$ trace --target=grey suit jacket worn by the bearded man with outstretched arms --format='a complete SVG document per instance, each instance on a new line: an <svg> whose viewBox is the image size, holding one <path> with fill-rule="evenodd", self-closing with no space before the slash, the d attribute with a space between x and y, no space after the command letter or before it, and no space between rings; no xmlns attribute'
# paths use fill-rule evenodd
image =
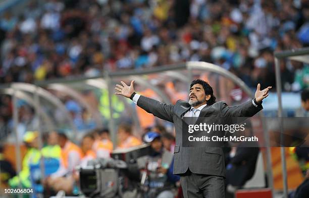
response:
<svg viewBox="0 0 309 198"><path fill-rule="evenodd" d="M148 113L173 122L176 129L176 146L174 151L174 174L185 173L188 169L196 174L225 176L222 148L218 147L182 147L182 118L190 109L188 102L178 100L175 105L165 104L151 98L140 96L137 105ZM252 101L238 106L228 106L224 101L205 106L199 117L251 117L263 109L255 107Z"/></svg>

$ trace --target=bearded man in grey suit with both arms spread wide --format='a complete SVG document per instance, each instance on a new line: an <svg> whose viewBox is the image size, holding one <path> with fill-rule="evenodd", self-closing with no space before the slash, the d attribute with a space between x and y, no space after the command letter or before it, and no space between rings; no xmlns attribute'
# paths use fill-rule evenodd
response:
<svg viewBox="0 0 309 198"><path fill-rule="evenodd" d="M190 85L189 101L178 100L175 105L165 104L151 98L136 94L134 81L128 86L116 85L118 95L133 100L139 107L153 115L173 122L176 129L176 146L174 151L174 174L180 175L185 198L223 198L225 165L222 148L219 147L183 147L183 117L251 117L262 107L262 100L269 95L268 87L261 85L255 97L239 106L228 106L224 101L216 102L213 88L200 79Z"/></svg>

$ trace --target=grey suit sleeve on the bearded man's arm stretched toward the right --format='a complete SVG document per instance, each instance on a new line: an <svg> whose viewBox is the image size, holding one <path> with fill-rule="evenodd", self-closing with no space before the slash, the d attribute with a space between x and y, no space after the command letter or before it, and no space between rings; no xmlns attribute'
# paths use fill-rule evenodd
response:
<svg viewBox="0 0 309 198"><path fill-rule="evenodd" d="M224 101L221 103L223 117L252 117L262 109L261 104L255 107L251 100L237 106L228 106Z"/></svg>

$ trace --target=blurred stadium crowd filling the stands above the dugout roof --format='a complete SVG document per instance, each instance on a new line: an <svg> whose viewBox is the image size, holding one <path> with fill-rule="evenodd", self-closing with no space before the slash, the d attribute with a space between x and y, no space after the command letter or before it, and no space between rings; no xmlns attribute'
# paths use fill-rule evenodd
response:
<svg viewBox="0 0 309 198"><path fill-rule="evenodd" d="M196 60L249 87L275 86L273 52L309 44L309 4L301 0L30 2L1 18L1 83ZM285 91L308 86L308 65L283 61L281 73Z"/></svg>

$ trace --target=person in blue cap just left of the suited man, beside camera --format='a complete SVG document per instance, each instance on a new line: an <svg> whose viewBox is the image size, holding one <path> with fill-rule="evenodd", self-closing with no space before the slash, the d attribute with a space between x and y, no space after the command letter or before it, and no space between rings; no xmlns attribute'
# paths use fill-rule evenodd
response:
<svg viewBox="0 0 309 198"><path fill-rule="evenodd" d="M137 159L142 175L147 175L145 182L142 181L147 186L145 197L173 198L179 180L179 176L173 175L173 154L163 147L158 133L150 131L143 140L150 143L149 155Z"/></svg>

